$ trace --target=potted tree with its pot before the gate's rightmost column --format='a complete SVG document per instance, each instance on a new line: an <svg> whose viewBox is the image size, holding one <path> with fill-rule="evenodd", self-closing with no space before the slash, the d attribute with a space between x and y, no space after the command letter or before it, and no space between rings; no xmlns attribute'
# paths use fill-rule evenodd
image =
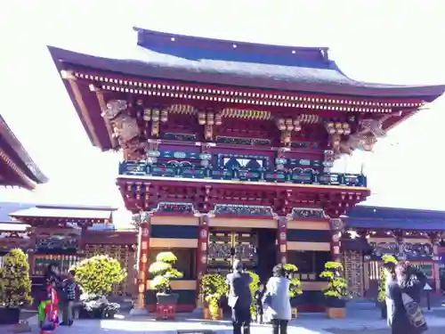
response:
<svg viewBox="0 0 445 334"><path fill-rule="evenodd" d="M351 297L348 284L342 274L343 265L336 261L328 261L325 264L325 270L320 273L320 278L328 280L328 287L323 292L327 314L331 319L345 317L346 299Z"/></svg>

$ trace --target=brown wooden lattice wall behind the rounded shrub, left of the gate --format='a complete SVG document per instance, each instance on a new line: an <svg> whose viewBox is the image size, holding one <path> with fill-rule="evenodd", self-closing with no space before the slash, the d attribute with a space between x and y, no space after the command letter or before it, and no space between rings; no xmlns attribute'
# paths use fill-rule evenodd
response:
<svg viewBox="0 0 445 334"><path fill-rule="evenodd" d="M131 296L134 291L134 252L123 245L86 245L86 257L108 255L117 259L122 268L125 268L127 277L125 281L114 287L115 296Z"/></svg>

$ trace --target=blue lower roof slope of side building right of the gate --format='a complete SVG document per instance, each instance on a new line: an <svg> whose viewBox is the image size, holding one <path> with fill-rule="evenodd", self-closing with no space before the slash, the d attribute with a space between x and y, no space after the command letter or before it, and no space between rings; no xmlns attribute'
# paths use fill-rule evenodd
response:
<svg viewBox="0 0 445 334"><path fill-rule="evenodd" d="M382 230L409 230L409 231L445 231L445 221L441 220L415 220L415 219L364 219L346 218L347 227L382 229Z"/></svg>

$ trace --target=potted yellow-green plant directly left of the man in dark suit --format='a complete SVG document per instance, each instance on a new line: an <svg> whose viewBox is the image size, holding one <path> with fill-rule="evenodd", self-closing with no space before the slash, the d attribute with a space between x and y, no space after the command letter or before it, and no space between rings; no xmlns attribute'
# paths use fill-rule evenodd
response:
<svg viewBox="0 0 445 334"><path fill-rule="evenodd" d="M206 305L204 319L223 319L223 309L220 307L221 297L229 292L225 277L219 273L207 273L201 279L201 293Z"/></svg>

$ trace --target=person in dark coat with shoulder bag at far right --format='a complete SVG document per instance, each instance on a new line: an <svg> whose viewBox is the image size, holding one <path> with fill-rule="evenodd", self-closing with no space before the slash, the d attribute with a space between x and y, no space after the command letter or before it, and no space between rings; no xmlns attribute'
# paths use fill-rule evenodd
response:
<svg viewBox="0 0 445 334"><path fill-rule="evenodd" d="M395 279L388 284L388 324L392 334L420 334L427 330L419 306L425 284L425 274L416 267L408 263L396 265Z"/></svg>

